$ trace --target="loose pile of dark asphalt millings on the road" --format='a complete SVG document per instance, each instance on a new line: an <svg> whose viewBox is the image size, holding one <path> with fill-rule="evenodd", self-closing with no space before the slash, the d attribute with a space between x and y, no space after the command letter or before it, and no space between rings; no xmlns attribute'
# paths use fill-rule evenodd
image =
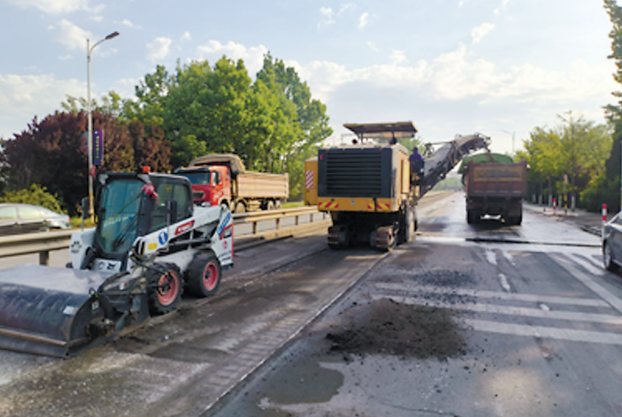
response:
<svg viewBox="0 0 622 417"><path fill-rule="evenodd" d="M326 335L332 343L330 352L439 360L465 353L452 310L383 298L354 303L343 315L345 323L338 326L339 331Z"/></svg>

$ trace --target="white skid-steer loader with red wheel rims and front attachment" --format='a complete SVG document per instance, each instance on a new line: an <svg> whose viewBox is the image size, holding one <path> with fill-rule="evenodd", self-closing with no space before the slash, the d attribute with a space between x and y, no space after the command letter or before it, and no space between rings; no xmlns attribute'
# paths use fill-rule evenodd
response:
<svg viewBox="0 0 622 417"><path fill-rule="evenodd" d="M68 268L0 271L0 348L68 357L175 309L184 287L218 289L233 266L224 207L192 203L188 179L99 176L97 226L71 238Z"/></svg>

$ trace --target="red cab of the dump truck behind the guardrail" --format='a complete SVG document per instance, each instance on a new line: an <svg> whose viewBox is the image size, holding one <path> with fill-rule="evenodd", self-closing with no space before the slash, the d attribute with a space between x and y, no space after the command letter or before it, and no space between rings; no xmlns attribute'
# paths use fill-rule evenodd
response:
<svg viewBox="0 0 622 417"><path fill-rule="evenodd" d="M195 204L203 206L229 206L231 197L231 176L229 168L223 165L209 167L182 168L175 171L192 184L192 197Z"/></svg>

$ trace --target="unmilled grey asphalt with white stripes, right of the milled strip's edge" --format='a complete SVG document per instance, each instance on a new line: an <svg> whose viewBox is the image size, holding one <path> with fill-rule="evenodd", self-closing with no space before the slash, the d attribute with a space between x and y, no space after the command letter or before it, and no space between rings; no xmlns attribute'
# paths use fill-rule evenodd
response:
<svg viewBox="0 0 622 417"><path fill-rule="evenodd" d="M622 415L622 277L576 218L540 210L506 227L466 224L459 196L429 207L415 242L205 415Z"/></svg>

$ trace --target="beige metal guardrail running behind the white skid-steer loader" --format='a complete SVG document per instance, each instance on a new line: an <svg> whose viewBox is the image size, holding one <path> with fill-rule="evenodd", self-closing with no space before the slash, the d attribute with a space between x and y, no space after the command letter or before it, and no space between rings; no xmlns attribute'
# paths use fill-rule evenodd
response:
<svg viewBox="0 0 622 417"><path fill-rule="evenodd" d="M280 221L283 218L294 217L295 226L300 224L300 217L308 215L309 222L313 222L313 215L319 213L316 207L301 207L291 209L279 209L271 211L259 211L253 213L240 213L233 215L235 224L250 223L253 226L253 235L257 234L257 223L274 220L275 227L280 228ZM322 215L325 218L326 214ZM71 235L76 230L59 230L14 236L0 237L0 258L10 256L39 254L39 264L48 265L50 251L67 249L71 241Z"/></svg>

